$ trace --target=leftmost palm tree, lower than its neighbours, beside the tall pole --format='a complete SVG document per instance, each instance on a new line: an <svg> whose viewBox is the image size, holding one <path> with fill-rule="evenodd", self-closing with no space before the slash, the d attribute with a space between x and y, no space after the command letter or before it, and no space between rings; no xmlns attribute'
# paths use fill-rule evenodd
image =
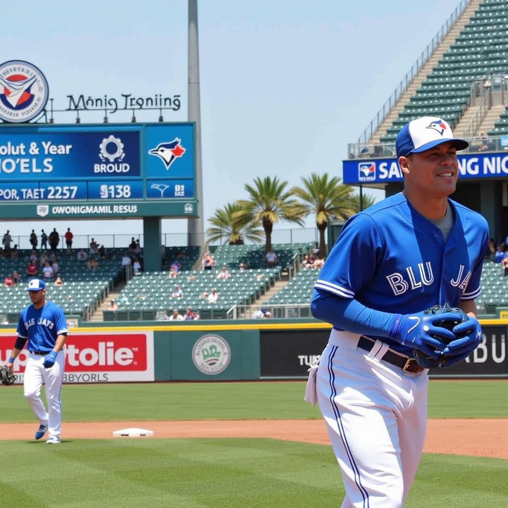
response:
<svg viewBox="0 0 508 508"><path fill-rule="evenodd" d="M206 230L208 241L221 241L226 238L230 245L243 245L244 240L259 242L263 239L263 232L255 225L234 218L234 214L242 208L237 203L227 203L224 208L217 208L209 220L212 227Z"/></svg>

